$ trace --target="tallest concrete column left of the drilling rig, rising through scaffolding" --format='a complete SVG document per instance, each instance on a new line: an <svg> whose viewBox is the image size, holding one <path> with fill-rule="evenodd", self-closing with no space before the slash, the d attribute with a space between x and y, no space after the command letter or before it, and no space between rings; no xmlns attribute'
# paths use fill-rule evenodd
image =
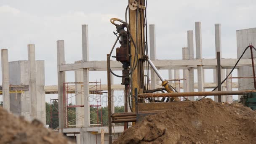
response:
<svg viewBox="0 0 256 144"><path fill-rule="evenodd" d="M82 25L82 48L83 61L89 60L88 50L88 25ZM83 89L84 89L84 111L85 128L90 127L90 103L89 103L89 69L83 69Z"/></svg>

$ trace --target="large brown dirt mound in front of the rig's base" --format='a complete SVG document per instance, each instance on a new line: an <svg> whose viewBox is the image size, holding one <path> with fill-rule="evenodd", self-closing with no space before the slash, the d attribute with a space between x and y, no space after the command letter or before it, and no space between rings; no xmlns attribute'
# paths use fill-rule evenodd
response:
<svg viewBox="0 0 256 144"><path fill-rule="evenodd" d="M144 118L114 144L253 144L256 112L240 104L211 99L178 104Z"/></svg>

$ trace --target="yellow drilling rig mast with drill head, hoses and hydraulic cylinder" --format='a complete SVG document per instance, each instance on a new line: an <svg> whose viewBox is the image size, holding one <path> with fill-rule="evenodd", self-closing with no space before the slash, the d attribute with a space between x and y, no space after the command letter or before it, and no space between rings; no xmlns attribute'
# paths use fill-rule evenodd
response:
<svg viewBox="0 0 256 144"><path fill-rule="evenodd" d="M173 93L177 92L168 80L164 80L155 65L149 59L148 40L147 40L147 0L129 0L125 9L125 20L112 18L110 22L116 27L114 34L117 36L107 59L110 57L122 63L122 75L117 75L112 71L110 62L108 74L110 72L116 77L122 78L122 85L125 85L125 113L128 107L131 112L136 112L136 104L153 102L180 101L177 97L136 98L142 93ZM117 42L120 47L115 49ZM112 52L116 51L116 56ZM149 89L149 68L153 69L162 81L163 88ZM149 111L154 108L149 108ZM138 111L138 110L137 110ZM115 114L113 114L115 115ZM113 123L120 123L121 120L112 120ZM123 121L122 121L123 122ZM129 120L125 120L125 129L128 128ZM134 124L134 123L133 123Z"/></svg>

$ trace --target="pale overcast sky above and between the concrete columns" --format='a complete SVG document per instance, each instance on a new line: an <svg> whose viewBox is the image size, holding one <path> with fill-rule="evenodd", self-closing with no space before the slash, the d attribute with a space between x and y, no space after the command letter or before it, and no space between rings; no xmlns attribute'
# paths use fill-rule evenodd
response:
<svg viewBox="0 0 256 144"><path fill-rule="evenodd" d="M45 85L56 85L56 41L65 40L66 63L81 60L81 25L88 24L89 60L105 60L115 42L109 19L124 19L127 1L0 0L0 48L8 48L9 61L27 60L27 45L35 44L36 60L45 60ZM255 7L255 0L148 0L147 20L156 27L157 59L181 59L187 30L195 30L195 21L202 23L203 58L215 58L218 23L222 57L236 58L236 30L256 26ZM162 72L167 79L167 72ZM106 72L90 72L89 80L96 79L106 84ZM211 82L213 76L205 79ZM74 73L67 72L67 82L73 81Z"/></svg>

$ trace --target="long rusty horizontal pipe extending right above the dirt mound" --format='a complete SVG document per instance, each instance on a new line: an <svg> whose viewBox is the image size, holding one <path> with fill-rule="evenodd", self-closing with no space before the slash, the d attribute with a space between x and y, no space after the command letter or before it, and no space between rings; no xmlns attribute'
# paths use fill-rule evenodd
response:
<svg viewBox="0 0 256 144"><path fill-rule="evenodd" d="M220 96L220 95L241 95L243 93L256 92L256 90L242 91L202 91L202 92L185 92L185 93L144 93L139 94L139 98L154 97L180 97L180 96Z"/></svg>

